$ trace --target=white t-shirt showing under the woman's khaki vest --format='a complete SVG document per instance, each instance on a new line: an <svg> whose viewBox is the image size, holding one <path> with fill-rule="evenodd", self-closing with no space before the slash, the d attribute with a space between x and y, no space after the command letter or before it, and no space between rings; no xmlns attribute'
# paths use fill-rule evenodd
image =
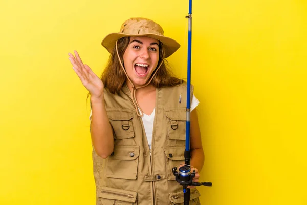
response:
<svg viewBox="0 0 307 205"><path fill-rule="evenodd" d="M191 112L198 106L199 103L200 101L195 97L195 95L193 95L192 103L191 103ZM145 129L145 133L146 133L146 137L147 137L147 141L148 141L148 145L150 149L151 149L151 141L152 141L153 121L155 120L155 110L156 108L153 109L153 112L150 115L146 115L145 113L143 113L143 116L141 117L143 120L143 125L144 125L144 129ZM92 110L90 114L90 120L92 120Z"/></svg>

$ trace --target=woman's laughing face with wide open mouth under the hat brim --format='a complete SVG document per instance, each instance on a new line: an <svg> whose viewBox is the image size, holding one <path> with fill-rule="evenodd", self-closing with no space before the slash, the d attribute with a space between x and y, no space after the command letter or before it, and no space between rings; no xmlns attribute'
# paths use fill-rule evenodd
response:
<svg viewBox="0 0 307 205"><path fill-rule="evenodd" d="M136 87L144 85L157 68L159 41L150 37L131 37L124 53L124 67Z"/></svg>

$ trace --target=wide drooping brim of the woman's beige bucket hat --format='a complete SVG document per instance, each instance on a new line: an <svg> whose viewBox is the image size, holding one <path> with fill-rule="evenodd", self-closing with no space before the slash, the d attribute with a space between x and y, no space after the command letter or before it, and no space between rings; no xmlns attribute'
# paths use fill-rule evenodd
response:
<svg viewBox="0 0 307 205"><path fill-rule="evenodd" d="M176 52L179 47L180 44L169 37L166 36L161 36L161 35L157 35L157 34L152 34L152 33L148 33L148 34L125 34L125 33L110 33L107 36L104 37L104 39L101 42L101 45L103 47L106 48L106 50L111 53L115 43L118 39L122 38L122 37L141 37L141 36L147 36L150 38L155 38L157 40L159 40L160 42L163 43L163 47L165 48L165 58L169 57L170 55L172 55L174 52Z"/></svg>

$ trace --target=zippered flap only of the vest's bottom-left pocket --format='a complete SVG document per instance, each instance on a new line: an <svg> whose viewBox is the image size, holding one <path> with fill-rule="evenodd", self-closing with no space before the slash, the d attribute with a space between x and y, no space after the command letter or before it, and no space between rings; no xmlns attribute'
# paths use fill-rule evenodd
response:
<svg viewBox="0 0 307 205"><path fill-rule="evenodd" d="M135 203L137 200L137 192L126 191L122 189L115 189L110 187L102 187L99 193L100 198L112 199L118 201L125 201Z"/></svg>

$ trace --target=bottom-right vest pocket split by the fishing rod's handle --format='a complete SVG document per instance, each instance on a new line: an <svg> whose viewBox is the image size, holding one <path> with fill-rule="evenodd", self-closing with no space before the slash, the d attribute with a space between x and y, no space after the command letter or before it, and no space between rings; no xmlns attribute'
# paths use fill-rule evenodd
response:
<svg viewBox="0 0 307 205"><path fill-rule="evenodd" d="M197 189L191 189L190 190L190 205L199 205L201 204L199 201L199 198L201 194ZM177 205L184 205L184 198L183 198L183 192L176 192L176 193L170 193L169 194L169 200L170 205L177 204Z"/></svg>

